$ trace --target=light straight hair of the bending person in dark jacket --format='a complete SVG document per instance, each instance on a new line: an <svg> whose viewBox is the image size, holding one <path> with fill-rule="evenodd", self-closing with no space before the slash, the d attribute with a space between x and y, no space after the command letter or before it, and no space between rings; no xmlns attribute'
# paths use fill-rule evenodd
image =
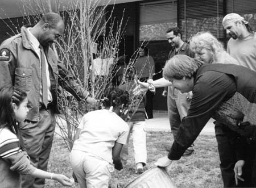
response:
<svg viewBox="0 0 256 188"><path fill-rule="evenodd" d="M201 65L203 65L203 62L197 59L186 55L176 55L168 60L164 66L163 77L169 81L172 78L177 80L181 80L183 77L192 78Z"/></svg>

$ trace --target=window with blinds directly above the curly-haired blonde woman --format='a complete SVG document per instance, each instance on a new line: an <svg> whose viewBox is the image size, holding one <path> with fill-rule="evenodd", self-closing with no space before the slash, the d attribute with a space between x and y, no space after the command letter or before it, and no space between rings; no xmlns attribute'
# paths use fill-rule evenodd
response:
<svg viewBox="0 0 256 188"><path fill-rule="evenodd" d="M183 40L189 40L200 31L210 31L218 39L223 39L222 0L181 0L178 9Z"/></svg>

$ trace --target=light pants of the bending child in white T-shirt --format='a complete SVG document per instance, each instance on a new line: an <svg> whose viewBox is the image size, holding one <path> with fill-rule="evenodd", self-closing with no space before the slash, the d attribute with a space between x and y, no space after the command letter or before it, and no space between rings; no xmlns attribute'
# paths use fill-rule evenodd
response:
<svg viewBox="0 0 256 188"><path fill-rule="evenodd" d="M72 150L70 161L81 188L108 188L113 166L92 153Z"/></svg>

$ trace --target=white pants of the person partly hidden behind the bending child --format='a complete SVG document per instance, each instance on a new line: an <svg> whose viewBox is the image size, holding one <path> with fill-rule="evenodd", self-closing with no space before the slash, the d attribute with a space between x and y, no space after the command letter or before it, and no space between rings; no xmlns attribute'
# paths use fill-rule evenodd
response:
<svg viewBox="0 0 256 188"><path fill-rule="evenodd" d="M138 162L142 162L144 163L144 165L146 165L147 149L146 149L145 124L146 123L144 121L128 123L130 130L129 130L129 136L127 137L127 144L123 145L123 148L120 154L122 160L128 160L128 153L129 153L128 144L129 144L130 134L132 133L135 164L137 164Z"/></svg>

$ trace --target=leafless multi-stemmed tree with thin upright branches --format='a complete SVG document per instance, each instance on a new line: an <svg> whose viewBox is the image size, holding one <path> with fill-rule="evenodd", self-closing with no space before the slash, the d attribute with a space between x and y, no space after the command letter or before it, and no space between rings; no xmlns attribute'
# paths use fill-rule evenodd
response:
<svg viewBox="0 0 256 188"><path fill-rule="evenodd" d="M104 91L112 86L112 80L117 70L114 69L118 62L120 41L125 32L127 20L115 20L113 18L114 5L108 8L109 1L85 0L70 1L69 9L62 1L20 0L22 24L35 24L42 14L53 11L58 12L64 19L65 32L60 39L53 44L60 63L69 70L69 74L75 77L77 82L92 97L101 99ZM102 4L102 2L105 2ZM125 10L123 10L124 14ZM10 22L9 26L14 35L19 32L16 23ZM15 27L13 27L15 26ZM138 52L134 53L137 56ZM97 62L96 62L97 60ZM121 84L124 83L127 70L133 66L130 61L123 71ZM68 83L67 83L68 84ZM68 149L71 150L73 137L79 122L86 112L95 110L82 100L77 102L71 94L59 88L58 103L61 114L57 115L59 135L64 139ZM135 112L140 101L131 96L130 107ZM128 119L126 119L128 120Z"/></svg>

